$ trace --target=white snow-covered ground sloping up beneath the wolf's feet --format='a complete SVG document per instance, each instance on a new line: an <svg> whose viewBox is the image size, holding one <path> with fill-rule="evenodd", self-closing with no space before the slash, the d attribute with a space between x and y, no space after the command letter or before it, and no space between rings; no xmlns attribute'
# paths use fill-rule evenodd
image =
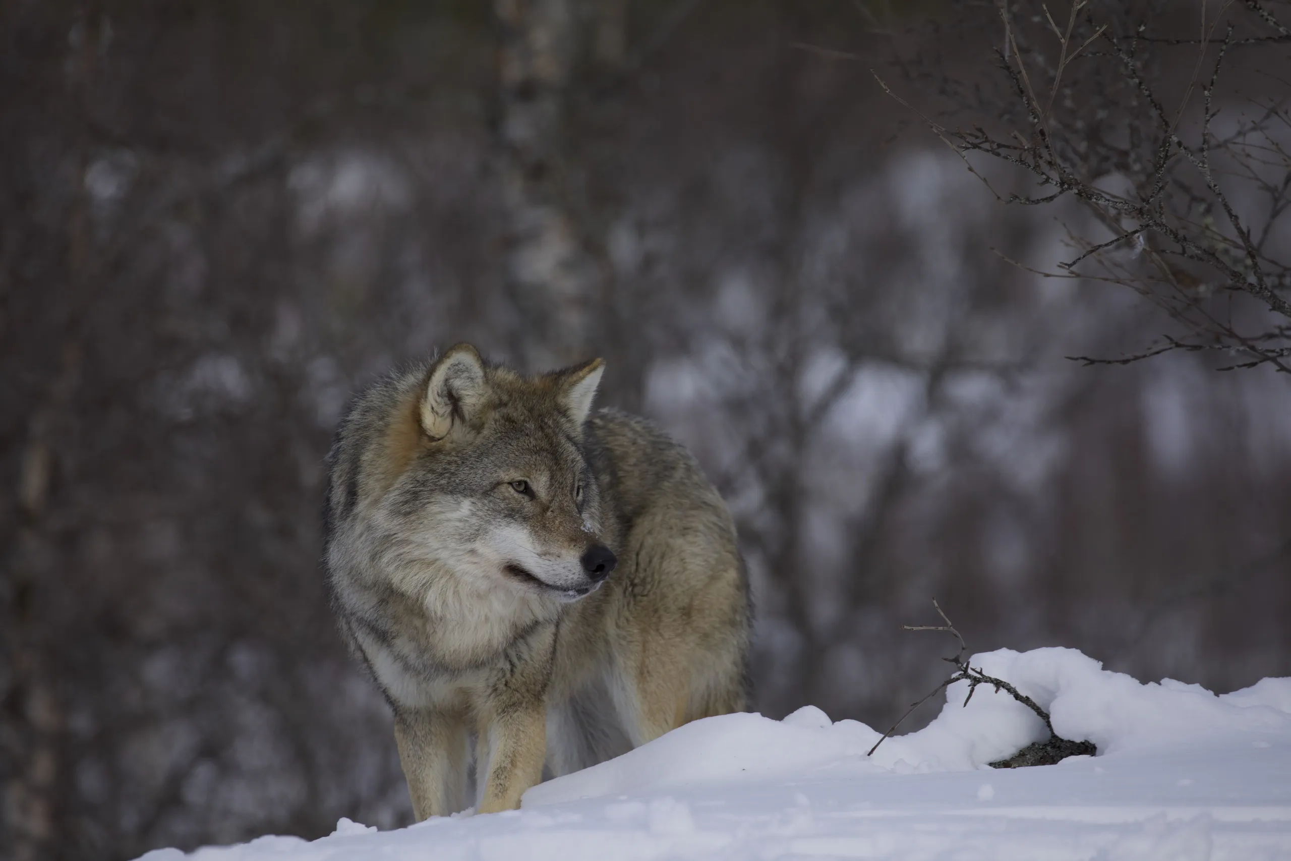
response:
<svg viewBox="0 0 1291 861"><path fill-rule="evenodd" d="M520 811L378 833L341 820L307 843L266 836L199 861L542 858L1291 858L1291 679L1215 696L1140 684L1073 649L1007 649L973 666L1012 682L1097 756L994 769L1046 737L1006 693L951 685L941 714L889 738L812 706L682 727L529 790ZM176 849L143 856L178 861Z"/></svg>

